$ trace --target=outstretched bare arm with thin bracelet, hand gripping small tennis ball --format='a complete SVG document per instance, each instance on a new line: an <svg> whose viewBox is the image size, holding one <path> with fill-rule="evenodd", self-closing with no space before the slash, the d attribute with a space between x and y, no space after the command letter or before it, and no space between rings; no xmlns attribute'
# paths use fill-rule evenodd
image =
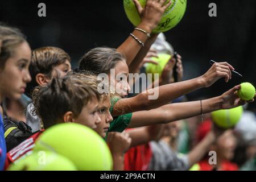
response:
<svg viewBox="0 0 256 182"><path fill-rule="evenodd" d="M141 127L148 125L157 125L160 123L168 123L172 121L178 121L180 119L190 118L195 115L201 114L201 108L204 113L210 113L219 109L230 109L245 104L237 96L237 90L240 89L240 85L234 86L234 88L228 90L221 96L202 100L202 107L200 101L181 102L175 104L168 104L157 109L149 111L138 111L133 113L131 121L128 125L129 128ZM253 102L251 100L249 102Z"/></svg>

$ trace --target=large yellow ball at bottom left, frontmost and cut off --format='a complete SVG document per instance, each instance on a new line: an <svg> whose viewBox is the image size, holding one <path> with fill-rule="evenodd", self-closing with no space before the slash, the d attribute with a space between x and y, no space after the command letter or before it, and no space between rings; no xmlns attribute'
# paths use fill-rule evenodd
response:
<svg viewBox="0 0 256 182"><path fill-rule="evenodd" d="M9 171L76 171L75 165L64 156L40 151L17 160Z"/></svg>

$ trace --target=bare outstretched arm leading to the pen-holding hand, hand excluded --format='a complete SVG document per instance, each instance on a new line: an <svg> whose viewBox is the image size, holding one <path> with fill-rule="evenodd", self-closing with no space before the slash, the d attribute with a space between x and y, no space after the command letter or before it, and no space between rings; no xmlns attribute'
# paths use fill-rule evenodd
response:
<svg viewBox="0 0 256 182"><path fill-rule="evenodd" d="M114 109L111 114L115 117L121 114L154 109L201 87L203 87L203 81L200 77L192 80L162 85L146 90L135 97L119 100L114 105Z"/></svg>

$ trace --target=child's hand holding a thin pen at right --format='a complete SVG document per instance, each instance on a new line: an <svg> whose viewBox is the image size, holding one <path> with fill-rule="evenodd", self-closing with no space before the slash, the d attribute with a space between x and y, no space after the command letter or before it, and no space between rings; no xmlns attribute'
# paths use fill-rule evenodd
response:
<svg viewBox="0 0 256 182"><path fill-rule="evenodd" d="M232 77L230 70L234 70L234 68L226 62L214 63L212 67L201 76L203 78L204 86L209 87L222 77L225 77L225 81L228 82Z"/></svg>

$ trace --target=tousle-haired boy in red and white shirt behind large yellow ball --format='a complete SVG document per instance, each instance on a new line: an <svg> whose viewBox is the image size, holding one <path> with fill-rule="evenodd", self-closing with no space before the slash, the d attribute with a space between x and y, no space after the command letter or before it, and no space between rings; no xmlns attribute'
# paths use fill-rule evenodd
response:
<svg viewBox="0 0 256 182"><path fill-rule="evenodd" d="M98 84L95 76L69 73L63 78L53 78L49 84L35 89L34 111L42 119L44 129L63 122L76 122L96 129L101 123L98 106L106 97L98 92ZM9 163L30 154L40 133L42 131L13 148L7 154ZM118 137L123 141L122 144L129 145L127 135Z"/></svg>

